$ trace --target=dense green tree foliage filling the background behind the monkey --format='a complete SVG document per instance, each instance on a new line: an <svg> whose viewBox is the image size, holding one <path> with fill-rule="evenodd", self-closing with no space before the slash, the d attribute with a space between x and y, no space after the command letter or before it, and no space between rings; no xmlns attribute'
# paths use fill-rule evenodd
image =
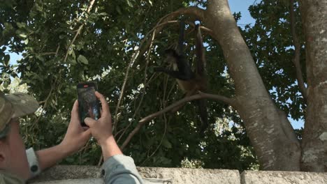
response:
<svg viewBox="0 0 327 184"><path fill-rule="evenodd" d="M151 38L145 36L161 17L194 4L206 6L206 2L161 0L94 1L93 5L75 0L3 1L1 83L8 92L10 77L19 76L42 107L36 116L21 121L27 145L45 148L61 141L77 98L75 86L81 81L96 81L108 97L119 145L141 118L183 98L173 79L153 72L153 67L164 64L164 49L177 40L178 24L165 25L150 49L145 45ZM303 118L305 103L291 61L289 4L265 0L249 10L256 24L245 26L242 34L263 82L278 107L294 119ZM240 18L239 13L234 16ZM302 35L298 11L296 16L296 29ZM190 61L194 60L194 36L190 28L186 40ZM233 79L221 47L208 34L204 40L209 92L233 97ZM132 61L138 49L140 56ZM22 53L17 66L9 63L10 52ZM122 102L116 106L129 66ZM188 103L178 114L164 114L143 125L124 153L132 155L139 166L180 167L187 159L200 160L205 168L256 169L258 161L235 109L216 101L209 101L208 109L210 128L205 137L199 137L197 111ZM90 140L63 163L98 164L100 156L96 141Z"/></svg>

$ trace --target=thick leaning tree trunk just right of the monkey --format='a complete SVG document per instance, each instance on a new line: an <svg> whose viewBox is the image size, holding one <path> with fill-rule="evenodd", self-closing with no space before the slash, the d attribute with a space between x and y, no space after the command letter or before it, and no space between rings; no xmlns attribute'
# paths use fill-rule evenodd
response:
<svg viewBox="0 0 327 184"><path fill-rule="evenodd" d="M238 112L258 155L261 169L300 170L300 145L275 106L234 20L227 0L208 0L203 23L219 41L235 82Z"/></svg>

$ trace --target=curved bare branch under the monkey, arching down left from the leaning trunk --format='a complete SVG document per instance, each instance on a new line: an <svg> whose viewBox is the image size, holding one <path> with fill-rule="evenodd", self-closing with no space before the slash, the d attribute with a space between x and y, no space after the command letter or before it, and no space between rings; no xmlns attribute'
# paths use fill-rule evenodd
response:
<svg viewBox="0 0 327 184"><path fill-rule="evenodd" d="M209 93L202 93L199 92L196 95L191 95L187 98L183 98L182 100L179 100L175 103L173 103L172 105L169 105L168 107L166 107L165 109L162 109L159 112L156 112L154 114L150 114L149 116L146 116L145 118L142 118L140 121L138 121L138 125L136 125L136 128L134 128L134 130L129 134L129 136L126 138L126 140L124 141L124 143L122 144L122 146L120 147L122 150L127 146L127 144L129 144L129 141L131 141L131 139L133 138L134 135L136 135L136 133L138 132L138 130L140 130L140 128L142 128L142 126L151 121L153 118L156 118L157 116L160 116L161 114L164 114L166 112L169 112L171 109L183 105L186 102L190 102L192 100L199 100L199 99L203 99L203 98L208 98L211 100L217 100L217 101L221 101L221 102L225 102L228 105L231 105L232 107L235 108L236 101L233 98L227 98L223 95L213 95L213 94L209 94Z"/></svg>

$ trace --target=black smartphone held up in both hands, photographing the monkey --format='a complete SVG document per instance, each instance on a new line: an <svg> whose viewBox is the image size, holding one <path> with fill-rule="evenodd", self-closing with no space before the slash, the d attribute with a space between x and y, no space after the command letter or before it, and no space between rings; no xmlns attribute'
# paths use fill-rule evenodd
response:
<svg viewBox="0 0 327 184"><path fill-rule="evenodd" d="M82 126L87 126L84 122L86 117L95 120L100 118L99 100L95 95L98 87L95 82L82 82L77 85L77 89L80 123Z"/></svg>

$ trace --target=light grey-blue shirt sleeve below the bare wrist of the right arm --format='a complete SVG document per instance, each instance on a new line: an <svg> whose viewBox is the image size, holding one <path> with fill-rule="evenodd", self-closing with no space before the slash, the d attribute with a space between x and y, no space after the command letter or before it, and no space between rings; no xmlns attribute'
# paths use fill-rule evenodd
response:
<svg viewBox="0 0 327 184"><path fill-rule="evenodd" d="M143 183L134 160L125 155L114 155L101 167L101 174L106 184Z"/></svg>

